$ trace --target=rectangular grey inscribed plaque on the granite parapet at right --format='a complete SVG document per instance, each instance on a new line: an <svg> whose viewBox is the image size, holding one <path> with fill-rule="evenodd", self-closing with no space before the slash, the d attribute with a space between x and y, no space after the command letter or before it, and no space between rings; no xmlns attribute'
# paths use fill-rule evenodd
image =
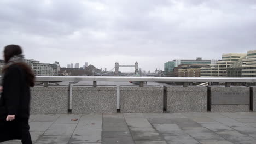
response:
<svg viewBox="0 0 256 144"><path fill-rule="evenodd" d="M250 93L243 91L211 92L212 105L249 105Z"/></svg>

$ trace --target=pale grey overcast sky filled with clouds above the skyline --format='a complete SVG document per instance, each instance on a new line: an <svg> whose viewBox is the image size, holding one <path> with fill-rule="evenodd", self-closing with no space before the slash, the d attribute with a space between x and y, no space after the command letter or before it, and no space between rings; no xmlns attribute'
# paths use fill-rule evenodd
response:
<svg viewBox="0 0 256 144"><path fill-rule="evenodd" d="M256 49L255 0L1 0L0 47L61 67L115 61L143 70L173 59L221 59ZM133 71L120 68L120 71Z"/></svg>

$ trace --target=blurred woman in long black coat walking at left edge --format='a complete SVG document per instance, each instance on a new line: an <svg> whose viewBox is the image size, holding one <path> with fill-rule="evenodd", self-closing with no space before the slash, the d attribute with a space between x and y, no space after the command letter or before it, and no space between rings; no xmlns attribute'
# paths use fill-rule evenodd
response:
<svg viewBox="0 0 256 144"><path fill-rule="evenodd" d="M0 142L19 139L22 143L32 143L28 119L30 87L34 86L35 78L23 58L20 46L5 46L0 96Z"/></svg>

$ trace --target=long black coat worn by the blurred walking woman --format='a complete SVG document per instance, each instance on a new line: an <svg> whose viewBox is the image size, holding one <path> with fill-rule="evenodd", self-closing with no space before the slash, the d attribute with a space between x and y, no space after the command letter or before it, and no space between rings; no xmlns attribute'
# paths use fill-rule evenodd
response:
<svg viewBox="0 0 256 144"><path fill-rule="evenodd" d="M0 142L21 139L22 129L29 129L30 87L26 71L19 65L10 65L3 77L0 98ZM6 121L7 115L15 115L14 121Z"/></svg>

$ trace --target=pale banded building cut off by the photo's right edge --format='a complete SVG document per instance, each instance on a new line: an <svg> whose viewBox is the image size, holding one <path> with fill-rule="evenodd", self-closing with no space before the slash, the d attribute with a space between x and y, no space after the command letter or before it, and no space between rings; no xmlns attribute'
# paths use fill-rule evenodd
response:
<svg viewBox="0 0 256 144"><path fill-rule="evenodd" d="M242 77L256 77L256 50L249 50L242 63Z"/></svg>

